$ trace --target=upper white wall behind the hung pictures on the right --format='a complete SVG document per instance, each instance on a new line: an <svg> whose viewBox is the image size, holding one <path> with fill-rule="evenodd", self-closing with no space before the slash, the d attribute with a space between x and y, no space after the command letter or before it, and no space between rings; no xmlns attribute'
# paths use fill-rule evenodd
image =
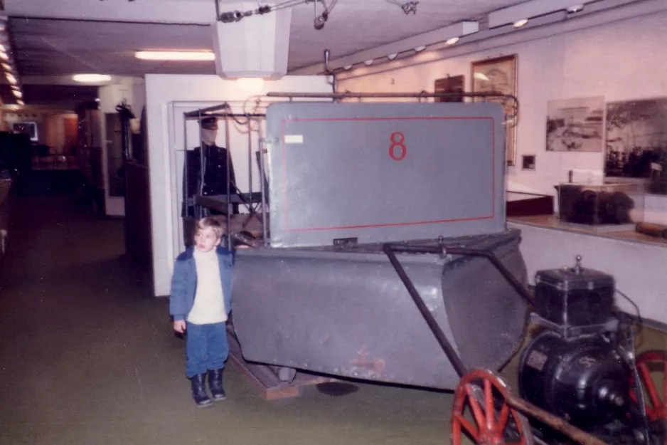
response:
<svg viewBox="0 0 667 445"><path fill-rule="evenodd" d="M432 91L434 80L448 74L465 75L466 90L470 90L472 62L516 53L520 115L517 166L508 167L508 189L554 194L553 186L567 182L570 169L575 170L575 181L602 177L604 152L546 152L548 100L604 96L607 102L612 102L667 97L666 42L667 11L663 11L457 58L341 80L338 90ZM521 155L536 155L535 171L521 170ZM667 209L667 200L660 201L663 210Z"/></svg>

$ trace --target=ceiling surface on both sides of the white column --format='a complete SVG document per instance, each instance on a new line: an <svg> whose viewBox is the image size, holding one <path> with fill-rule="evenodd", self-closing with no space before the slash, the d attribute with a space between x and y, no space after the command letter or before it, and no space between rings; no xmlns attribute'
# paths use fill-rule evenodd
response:
<svg viewBox="0 0 667 445"><path fill-rule="evenodd" d="M521 1L420 0L417 14L406 15L390 0L338 0L320 31L313 27L314 4L297 6L292 13L289 69L321 62L325 49L331 50L332 58L338 58L518 3ZM321 12L321 4L317 5ZM209 26L22 17L11 18L10 29L23 76L80 72L133 76L215 73L212 62L165 63L134 58L134 51L140 49L210 49Z"/></svg>

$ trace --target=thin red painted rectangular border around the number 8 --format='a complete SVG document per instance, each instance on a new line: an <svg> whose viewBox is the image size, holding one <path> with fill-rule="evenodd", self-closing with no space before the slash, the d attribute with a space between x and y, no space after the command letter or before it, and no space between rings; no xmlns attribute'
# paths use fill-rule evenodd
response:
<svg viewBox="0 0 667 445"><path fill-rule="evenodd" d="M460 116L460 117L330 117L317 118L307 117L302 119L284 119L281 123L282 131L282 179L283 185L287 184L287 153L285 152L285 122L343 122L350 120L490 120L491 121L491 215L490 216L476 216L474 218L457 218L457 219L438 219L434 221L412 221L407 223L380 223L380 224L360 224L356 226L331 226L331 227L312 227L309 229L290 229L287 215L289 214L287 201L287 187L283 187L282 196L285 203L285 230L288 232L303 232L303 231L321 231L321 230L344 230L344 229L366 229L369 227L395 227L395 226L416 226L420 224L441 224L459 221L481 221L484 219L493 219L496 217L496 122L493 117L489 116Z"/></svg>

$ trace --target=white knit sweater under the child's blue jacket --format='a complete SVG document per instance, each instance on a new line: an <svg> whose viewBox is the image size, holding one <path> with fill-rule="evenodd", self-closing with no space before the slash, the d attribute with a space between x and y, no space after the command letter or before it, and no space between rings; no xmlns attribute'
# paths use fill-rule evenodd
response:
<svg viewBox="0 0 667 445"><path fill-rule="evenodd" d="M197 270L197 290L188 321L196 325L227 321L218 253L215 248L209 252L194 248L193 256Z"/></svg>

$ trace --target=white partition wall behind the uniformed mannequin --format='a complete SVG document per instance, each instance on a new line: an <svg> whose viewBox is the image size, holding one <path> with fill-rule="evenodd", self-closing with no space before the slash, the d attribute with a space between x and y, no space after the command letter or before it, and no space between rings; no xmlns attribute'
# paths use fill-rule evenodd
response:
<svg viewBox="0 0 667 445"><path fill-rule="evenodd" d="M267 92L331 93L325 76L286 76L265 82L262 90L240 90L234 80L217 75L146 75L146 124L151 181L151 226L153 236L154 295L169 295L171 271L178 255L180 234L180 201L176 192L183 156L183 112L219 105L226 101L242 103L250 96ZM192 123L188 123L188 146L198 142ZM220 123L218 145L224 146L223 123ZM231 134L231 131L230 131ZM247 148L239 142L232 155L238 184L247 188ZM179 161L178 153L181 153ZM238 159L238 160L237 160ZM238 166L237 166L238 163ZM257 190L257 189L255 189Z"/></svg>

